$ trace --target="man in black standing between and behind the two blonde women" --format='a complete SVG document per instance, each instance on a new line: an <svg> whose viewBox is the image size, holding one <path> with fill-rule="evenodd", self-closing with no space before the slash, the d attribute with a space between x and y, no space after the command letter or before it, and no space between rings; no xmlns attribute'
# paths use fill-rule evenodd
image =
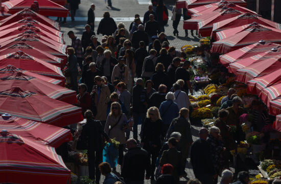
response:
<svg viewBox="0 0 281 184"><path fill-rule="evenodd" d="M143 87L144 81L142 78L136 79L136 85L133 87L132 93L132 107L133 107L133 118L135 120L133 125L133 137L137 140L137 125L139 118L142 121L142 125L145 122L146 111L147 111L147 95Z"/></svg>

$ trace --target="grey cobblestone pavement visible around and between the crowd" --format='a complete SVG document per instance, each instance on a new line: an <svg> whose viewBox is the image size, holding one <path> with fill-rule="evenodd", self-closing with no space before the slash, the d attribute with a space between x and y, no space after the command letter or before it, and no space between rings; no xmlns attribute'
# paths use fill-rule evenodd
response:
<svg viewBox="0 0 281 184"><path fill-rule="evenodd" d="M81 38L82 33L84 31L84 26L86 24L86 16L87 11L90 7L90 4L94 3L96 5L95 15L96 15L96 22L95 22L95 31L97 31L99 21L102 18L104 11L109 11L112 18L115 19L116 24L118 22L122 21L125 24L126 29L129 28L131 22L133 21L134 14L139 14L141 16L141 19L143 20L143 16L145 12L148 9L149 0L113 0L112 1L112 8L106 7L106 4L104 1L90 1L90 0L81 0L81 4L79 6L79 10L76 13L76 21L72 22L69 21L69 17L67 17L67 23L61 25L61 31L64 33L64 40L65 43L70 45L71 39L68 38L67 32L68 31L74 31L75 35ZM169 16L172 15L172 5L166 5L169 10ZM51 17L52 19L56 19L56 17ZM167 35L167 38L170 42L170 45L173 45L176 47L177 50L180 50L180 48L183 45L189 44L198 44L199 38L197 36L192 36L191 32L189 32L189 37L184 38L184 30L183 27L183 20L180 21L180 24L178 26L179 31L179 37L173 36L173 27L172 27L172 21L169 20L168 25L165 27L165 33ZM98 40L101 41L102 35L98 35ZM198 137L198 131L201 128L201 125L192 125L192 135L193 140L196 140ZM140 126L139 126L140 129ZM139 130L140 131L140 130ZM131 133L132 136L132 133ZM136 166L137 167L137 166ZM120 166L116 168L117 173L120 173ZM188 173L187 177L183 177L180 179L181 184L185 184L189 178L194 178L194 173L192 170L192 166L190 164L190 158L188 158L188 162L186 164L185 168L186 173ZM104 180L104 176L101 178L101 183ZM145 180L146 184L149 183L155 183L155 180Z"/></svg>

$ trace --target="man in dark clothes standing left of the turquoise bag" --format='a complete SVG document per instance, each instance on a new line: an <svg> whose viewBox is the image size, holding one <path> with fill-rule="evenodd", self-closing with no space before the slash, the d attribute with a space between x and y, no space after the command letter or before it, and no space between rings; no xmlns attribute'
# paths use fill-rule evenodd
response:
<svg viewBox="0 0 281 184"><path fill-rule="evenodd" d="M80 139L88 142L89 178L93 180L96 178L95 182L100 183L101 172L99 164L103 162L103 137L107 141L109 141L109 137L105 133L101 122L93 120L93 114L90 110L86 110L85 118L87 123L82 127Z"/></svg>

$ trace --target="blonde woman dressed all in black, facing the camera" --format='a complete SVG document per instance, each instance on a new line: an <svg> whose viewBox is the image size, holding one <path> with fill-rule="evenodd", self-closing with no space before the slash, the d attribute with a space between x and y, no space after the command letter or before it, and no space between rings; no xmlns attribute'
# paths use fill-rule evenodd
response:
<svg viewBox="0 0 281 184"><path fill-rule="evenodd" d="M151 157L151 179L154 179L156 158L162 144L162 125L163 122L157 107L150 107L147 110L146 120L143 126L141 142L143 148L148 152L149 159Z"/></svg>

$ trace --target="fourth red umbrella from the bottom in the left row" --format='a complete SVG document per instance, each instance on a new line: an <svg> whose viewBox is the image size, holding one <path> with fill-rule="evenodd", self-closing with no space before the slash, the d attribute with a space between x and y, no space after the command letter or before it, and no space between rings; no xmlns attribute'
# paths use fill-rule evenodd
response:
<svg viewBox="0 0 281 184"><path fill-rule="evenodd" d="M69 104L77 103L76 91L31 77L22 72L15 72L0 78L1 91L8 90L13 86L19 86L23 90L30 90L36 94L45 95Z"/></svg>

